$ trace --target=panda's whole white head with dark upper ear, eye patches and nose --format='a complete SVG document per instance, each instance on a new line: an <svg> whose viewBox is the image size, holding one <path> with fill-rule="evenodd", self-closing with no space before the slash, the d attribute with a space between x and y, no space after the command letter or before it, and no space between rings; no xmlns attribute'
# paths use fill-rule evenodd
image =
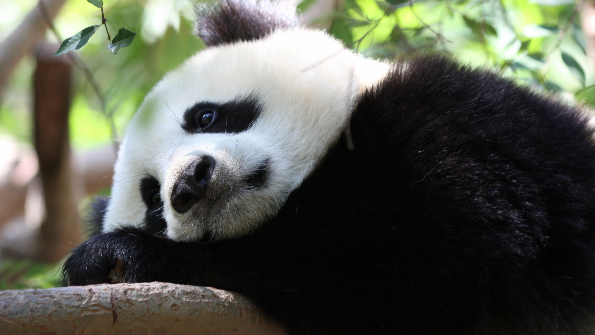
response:
<svg viewBox="0 0 595 335"><path fill-rule="evenodd" d="M168 73L130 122L104 232L248 234L315 169L389 68L268 0L201 7L197 31L208 47Z"/></svg>

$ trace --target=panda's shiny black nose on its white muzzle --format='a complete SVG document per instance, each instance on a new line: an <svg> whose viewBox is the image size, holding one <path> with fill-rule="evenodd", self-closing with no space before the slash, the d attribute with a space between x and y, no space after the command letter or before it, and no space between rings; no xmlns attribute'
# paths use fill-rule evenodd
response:
<svg viewBox="0 0 595 335"><path fill-rule="evenodd" d="M214 169L215 159L203 156L182 172L171 191L171 206L176 212L186 212L205 196L206 186Z"/></svg>

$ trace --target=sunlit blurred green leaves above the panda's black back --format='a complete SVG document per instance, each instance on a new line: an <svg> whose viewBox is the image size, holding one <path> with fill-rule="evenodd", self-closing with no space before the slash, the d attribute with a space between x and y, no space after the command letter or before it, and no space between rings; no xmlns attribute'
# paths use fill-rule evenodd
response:
<svg viewBox="0 0 595 335"><path fill-rule="evenodd" d="M582 0L346 0L330 30L369 57L448 52L462 63L488 64L568 98L581 92L577 97L584 100L593 94L585 87L595 76L580 28L582 5Z"/></svg>

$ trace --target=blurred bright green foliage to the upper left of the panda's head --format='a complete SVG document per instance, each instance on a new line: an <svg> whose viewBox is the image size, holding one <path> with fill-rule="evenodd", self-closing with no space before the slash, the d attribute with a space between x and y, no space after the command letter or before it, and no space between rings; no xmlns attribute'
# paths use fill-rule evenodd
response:
<svg viewBox="0 0 595 335"><path fill-rule="evenodd" d="M23 18L36 1L2 0L0 11ZM73 101L70 114L70 138L75 150L86 150L108 144L111 138L109 120L116 128L116 139L142 102L143 97L169 70L204 47L192 33L193 8L189 0L118 0L105 1L105 17L109 31L128 27L141 32L140 38L127 48L112 55L105 29L99 29L79 52L106 101L101 101L79 68L74 70ZM4 15L0 15L2 17ZM101 21L101 11L83 0L68 0L55 20L62 36L76 34L81 26ZM4 24L3 24L4 23ZM14 29L19 20L3 22L0 18L0 38ZM48 41L60 43L48 32ZM31 77L35 60L27 58L15 70L0 105L0 134L10 134L20 141L32 142Z"/></svg>

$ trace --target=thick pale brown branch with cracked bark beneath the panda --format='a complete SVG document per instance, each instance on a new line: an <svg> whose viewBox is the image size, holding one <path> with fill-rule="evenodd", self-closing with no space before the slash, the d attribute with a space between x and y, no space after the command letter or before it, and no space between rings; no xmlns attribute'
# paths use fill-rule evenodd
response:
<svg viewBox="0 0 595 335"><path fill-rule="evenodd" d="M0 291L0 333L281 335L239 293L169 283Z"/></svg>

